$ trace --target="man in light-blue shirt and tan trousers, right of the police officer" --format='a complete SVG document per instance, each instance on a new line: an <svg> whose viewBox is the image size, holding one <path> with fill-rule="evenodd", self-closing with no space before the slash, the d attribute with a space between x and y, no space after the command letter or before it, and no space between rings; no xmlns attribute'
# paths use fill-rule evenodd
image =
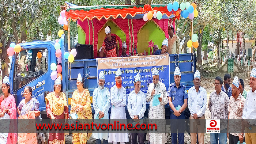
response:
<svg viewBox="0 0 256 144"><path fill-rule="evenodd" d="M188 109L190 111L190 136L191 144L196 144L196 133L198 133L199 144L204 144L204 125L200 124L205 119L204 113L207 105L206 90L200 86L201 75L197 70L194 74L194 85L188 90ZM196 120L196 121L195 121Z"/></svg>

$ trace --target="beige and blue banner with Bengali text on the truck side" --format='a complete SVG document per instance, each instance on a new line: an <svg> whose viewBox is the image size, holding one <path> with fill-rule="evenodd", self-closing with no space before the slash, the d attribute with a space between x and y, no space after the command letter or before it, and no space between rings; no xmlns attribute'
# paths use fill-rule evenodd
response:
<svg viewBox="0 0 256 144"><path fill-rule="evenodd" d="M105 87L113 87L116 71L122 71L122 86L127 94L134 90L134 77L140 74L141 91L146 93L148 85L153 83L152 69L159 70L159 81L164 83L166 88L169 86L169 55L153 56L133 56L133 57L114 57L97 58L97 72L103 71L105 74Z"/></svg>

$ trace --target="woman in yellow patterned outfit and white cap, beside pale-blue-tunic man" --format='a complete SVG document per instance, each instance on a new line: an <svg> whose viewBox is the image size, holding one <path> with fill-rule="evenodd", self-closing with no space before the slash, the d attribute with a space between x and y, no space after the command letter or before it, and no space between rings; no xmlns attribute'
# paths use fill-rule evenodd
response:
<svg viewBox="0 0 256 144"><path fill-rule="evenodd" d="M78 119L85 120L84 123L91 123L93 114L91 112L91 98L89 91L84 88L84 80L81 74L78 74L76 81L77 90L73 92L71 99L71 111L70 113L77 113ZM86 119L90 119L87 121ZM80 121L82 123L82 121ZM91 132L73 133L73 144L86 144L87 140L91 137Z"/></svg>

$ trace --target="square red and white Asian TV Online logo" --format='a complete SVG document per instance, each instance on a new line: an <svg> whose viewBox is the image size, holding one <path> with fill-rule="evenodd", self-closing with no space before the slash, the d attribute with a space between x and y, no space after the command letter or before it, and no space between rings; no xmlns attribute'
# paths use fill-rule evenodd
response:
<svg viewBox="0 0 256 144"><path fill-rule="evenodd" d="M221 120L206 120L206 133L220 133Z"/></svg>

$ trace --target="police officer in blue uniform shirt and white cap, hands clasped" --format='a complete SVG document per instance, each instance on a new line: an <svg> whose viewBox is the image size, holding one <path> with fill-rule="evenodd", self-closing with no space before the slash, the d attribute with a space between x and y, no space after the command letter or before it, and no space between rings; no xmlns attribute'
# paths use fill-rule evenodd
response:
<svg viewBox="0 0 256 144"><path fill-rule="evenodd" d="M181 85L180 80L181 72L176 67L174 71L174 83L169 85L167 92L171 107L170 119L173 120L171 121L172 144L177 143L177 131L179 144L184 144L185 114L183 111L188 104L188 94L186 87Z"/></svg>

